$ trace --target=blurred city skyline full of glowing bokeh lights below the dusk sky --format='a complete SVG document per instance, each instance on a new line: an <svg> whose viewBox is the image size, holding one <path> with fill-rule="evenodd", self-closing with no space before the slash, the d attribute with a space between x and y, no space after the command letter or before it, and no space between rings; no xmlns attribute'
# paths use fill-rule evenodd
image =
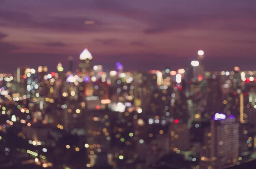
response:
<svg viewBox="0 0 256 169"><path fill-rule="evenodd" d="M256 71L110 72L84 49L0 74L0 169L225 169L256 158Z"/></svg>

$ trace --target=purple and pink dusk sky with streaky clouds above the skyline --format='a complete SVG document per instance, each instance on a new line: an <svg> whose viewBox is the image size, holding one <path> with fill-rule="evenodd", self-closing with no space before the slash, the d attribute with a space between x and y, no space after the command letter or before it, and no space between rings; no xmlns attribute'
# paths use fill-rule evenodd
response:
<svg viewBox="0 0 256 169"><path fill-rule="evenodd" d="M255 69L256 0L0 0L0 72L85 47L105 71L179 69L199 49L206 70Z"/></svg>

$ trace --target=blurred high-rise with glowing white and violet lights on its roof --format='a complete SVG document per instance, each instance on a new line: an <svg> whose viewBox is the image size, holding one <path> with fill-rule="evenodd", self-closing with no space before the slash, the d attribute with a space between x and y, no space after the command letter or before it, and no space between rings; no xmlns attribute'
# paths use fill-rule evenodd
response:
<svg viewBox="0 0 256 169"><path fill-rule="evenodd" d="M234 116L216 113L205 132L201 169L224 169L239 158L239 124Z"/></svg>

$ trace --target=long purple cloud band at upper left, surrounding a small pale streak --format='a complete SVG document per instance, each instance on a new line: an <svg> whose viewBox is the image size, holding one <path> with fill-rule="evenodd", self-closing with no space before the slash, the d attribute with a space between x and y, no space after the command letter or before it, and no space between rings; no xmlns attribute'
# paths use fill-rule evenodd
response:
<svg viewBox="0 0 256 169"><path fill-rule="evenodd" d="M91 17L52 17L44 16L44 20L37 19L32 14L17 11L0 10L0 19L4 20L5 26L19 26L34 29L49 29L63 32L109 32L117 31L111 28L107 23L100 20L94 20ZM86 25L86 20L93 20L95 24Z"/></svg>

